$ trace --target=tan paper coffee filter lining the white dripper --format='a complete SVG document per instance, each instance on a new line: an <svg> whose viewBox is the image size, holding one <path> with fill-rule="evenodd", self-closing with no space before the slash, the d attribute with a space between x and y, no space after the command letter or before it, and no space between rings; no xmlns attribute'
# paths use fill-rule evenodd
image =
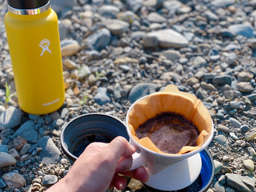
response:
<svg viewBox="0 0 256 192"><path fill-rule="evenodd" d="M196 146L184 146L176 154L193 151L209 139L212 131L212 119L201 100L189 93L179 91L174 85L169 85L164 91L152 93L138 101L128 114L128 128L134 139L142 146L154 152L170 155L158 149L148 137L138 139L135 133L135 130L141 124L163 112L174 112L183 115L192 121L200 132L196 139Z"/></svg>

